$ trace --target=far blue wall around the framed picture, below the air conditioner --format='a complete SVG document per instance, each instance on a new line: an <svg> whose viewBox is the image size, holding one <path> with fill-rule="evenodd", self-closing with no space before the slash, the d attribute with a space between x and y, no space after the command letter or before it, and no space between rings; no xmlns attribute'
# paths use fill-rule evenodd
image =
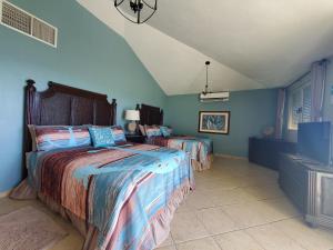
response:
<svg viewBox="0 0 333 250"><path fill-rule="evenodd" d="M215 153L248 157L249 137L275 126L276 100L276 89L231 92L228 102L201 103L198 94L169 97L165 124L176 133L212 138ZM231 111L230 134L198 133L199 111Z"/></svg>

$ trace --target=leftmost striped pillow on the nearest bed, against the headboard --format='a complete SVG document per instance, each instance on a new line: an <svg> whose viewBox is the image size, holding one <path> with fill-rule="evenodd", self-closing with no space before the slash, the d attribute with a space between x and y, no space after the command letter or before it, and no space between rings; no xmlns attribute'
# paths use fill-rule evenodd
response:
<svg viewBox="0 0 333 250"><path fill-rule="evenodd" d="M91 138L87 127L30 126L29 130L34 141L32 148L38 151L91 144Z"/></svg>

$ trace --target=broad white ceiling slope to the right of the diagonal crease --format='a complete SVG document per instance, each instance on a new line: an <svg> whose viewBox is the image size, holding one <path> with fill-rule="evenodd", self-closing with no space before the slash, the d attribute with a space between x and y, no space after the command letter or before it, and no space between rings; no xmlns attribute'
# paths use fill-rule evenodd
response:
<svg viewBox="0 0 333 250"><path fill-rule="evenodd" d="M163 0L149 24L269 87L333 54L332 0Z"/></svg>

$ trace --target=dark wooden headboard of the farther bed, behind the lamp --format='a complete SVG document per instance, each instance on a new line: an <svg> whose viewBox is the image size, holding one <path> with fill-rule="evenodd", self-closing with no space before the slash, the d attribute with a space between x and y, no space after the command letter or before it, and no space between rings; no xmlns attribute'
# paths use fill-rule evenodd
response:
<svg viewBox="0 0 333 250"><path fill-rule="evenodd" d="M163 124L162 109L153 106L138 104L137 110L140 110L140 124Z"/></svg>

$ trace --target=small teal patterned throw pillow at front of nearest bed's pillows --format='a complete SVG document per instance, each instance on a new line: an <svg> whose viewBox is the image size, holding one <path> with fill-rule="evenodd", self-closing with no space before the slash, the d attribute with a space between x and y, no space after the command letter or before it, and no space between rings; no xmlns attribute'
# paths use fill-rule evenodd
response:
<svg viewBox="0 0 333 250"><path fill-rule="evenodd" d="M110 127L92 127L89 128L93 147L110 147L114 146L114 140Z"/></svg>

